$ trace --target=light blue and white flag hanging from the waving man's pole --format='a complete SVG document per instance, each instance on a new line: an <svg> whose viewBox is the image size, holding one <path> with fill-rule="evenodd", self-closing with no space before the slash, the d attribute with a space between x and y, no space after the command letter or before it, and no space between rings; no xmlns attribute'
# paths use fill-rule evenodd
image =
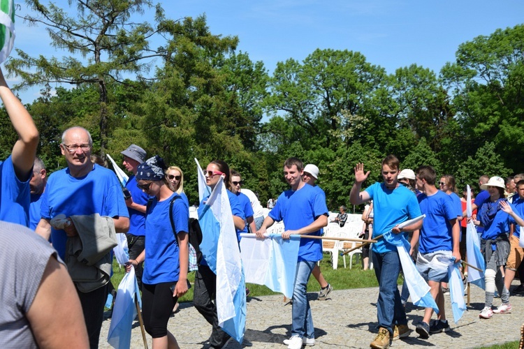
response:
<svg viewBox="0 0 524 349"><path fill-rule="evenodd" d="M416 269L412 258L409 256L410 246L404 235L393 234L390 230L384 233L383 236L387 242L397 246L402 272L404 272L409 296L412 298L413 304L423 306L424 308L432 308L435 313L439 313L437 303L435 303L435 299L433 299L430 293L430 286L425 282L419 270Z"/></svg>

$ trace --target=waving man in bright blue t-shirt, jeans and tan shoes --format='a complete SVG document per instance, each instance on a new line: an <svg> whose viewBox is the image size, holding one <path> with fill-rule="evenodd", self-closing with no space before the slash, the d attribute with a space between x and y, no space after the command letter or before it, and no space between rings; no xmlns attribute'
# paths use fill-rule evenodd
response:
<svg viewBox="0 0 524 349"><path fill-rule="evenodd" d="M421 221L402 229L398 228L400 223L421 216L415 194L398 182L399 168L400 162L396 156L386 156L382 161L381 169L384 183L377 182L365 191L361 191L362 184L370 172L364 172L363 163L358 163L355 167L355 183L351 187L349 201L353 205L361 205L373 200L373 239L389 230L393 234L402 233L407 238L407 232L421 228ZM397 287L400 273L397 247L388 244L385 239L379 239L377 243L373 244L373 265L379 281L379 299L377 300L379 334L370 343L370 347L388 348L392 337L393 340L399 339L409 336L411 332L407 327L406 312Z"/></svg>

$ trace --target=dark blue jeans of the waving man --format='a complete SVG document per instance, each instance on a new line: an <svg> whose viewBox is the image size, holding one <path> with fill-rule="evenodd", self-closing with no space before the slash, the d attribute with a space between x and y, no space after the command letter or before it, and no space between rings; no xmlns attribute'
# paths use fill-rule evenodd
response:
<svg viewBox="0 0 524 349"><path fill-rule="evenodd" d="M397 251L373 253L374 274L379 281L377 318L379 327L393 334L394 325L407 325L406 312L400 301L397 279L400 273L400 259Z"/></svg>

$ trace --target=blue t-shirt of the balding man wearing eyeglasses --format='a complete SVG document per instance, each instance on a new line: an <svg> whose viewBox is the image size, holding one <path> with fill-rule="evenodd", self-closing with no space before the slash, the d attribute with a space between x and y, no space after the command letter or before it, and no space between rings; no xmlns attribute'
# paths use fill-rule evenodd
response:
<svg viewBox="0 0 524 349"><path fill-rule="evenodd" d="M40 214L49 220L59 214L129 217L115 172L96 164L84 177L71 176L68 168L51 174L42 195ZM51 239L54 249L65 260L66 232L52 228Z"/></svg>

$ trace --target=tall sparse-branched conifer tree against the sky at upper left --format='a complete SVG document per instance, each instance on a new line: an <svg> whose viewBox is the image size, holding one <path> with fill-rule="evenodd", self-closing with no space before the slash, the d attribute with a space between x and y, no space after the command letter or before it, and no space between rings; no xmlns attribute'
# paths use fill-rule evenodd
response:
<svg viewBox="0 0 524 349"><path fill-rule="evenodd" d="M150 0L69 0L70 10L55 3L26 0L32 13L23 17L31 25L43 25L58 50L70 56L30 57L16 50L18 58L6 63L9 73L22 77L18 87L45 83L96 86L97 124L100 151L105 153L113 126L113 105L108 84L122 82L125 74L145 72L153 57L163 52L151 50L149 39L157 29L147 22L136 24L135 15L152 8ZM75 9L73 10L73 6ZM157 20L163 17L157 7Z"/></svg>

